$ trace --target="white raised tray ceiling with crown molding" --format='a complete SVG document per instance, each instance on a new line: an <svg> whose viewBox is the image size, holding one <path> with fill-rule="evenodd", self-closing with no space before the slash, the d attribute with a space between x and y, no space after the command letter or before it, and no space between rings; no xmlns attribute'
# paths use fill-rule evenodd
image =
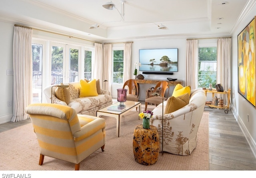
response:
<svg viewBox="0 0 256 178"><path fill-rule="evenodd" d="M126 0L124 20L108 0L1 0L5 20L101 41L232 34L255 0ZM112 0L121 10L121 1ZM89 29L98 24L98 29ZM159 30L163 24L168 30Z"/></svg>

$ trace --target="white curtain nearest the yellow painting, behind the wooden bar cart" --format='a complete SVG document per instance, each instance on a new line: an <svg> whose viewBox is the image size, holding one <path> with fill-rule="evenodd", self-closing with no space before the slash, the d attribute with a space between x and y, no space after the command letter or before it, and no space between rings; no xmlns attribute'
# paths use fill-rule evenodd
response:
<svg viewBox="0 0 256 178"><path fill-rule="evenodd" d="M224 90L228 91L231 80L231 38L218 38L217 41L217 84L222 84ZM228 96L223 95L224 103Z"/></svg>

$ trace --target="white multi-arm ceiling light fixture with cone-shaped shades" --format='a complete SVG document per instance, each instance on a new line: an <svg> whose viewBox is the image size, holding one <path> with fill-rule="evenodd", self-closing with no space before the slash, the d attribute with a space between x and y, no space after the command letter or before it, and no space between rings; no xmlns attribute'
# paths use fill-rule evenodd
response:
<svg viewBox="0 0 256 178"><path fill-rule="evenodd" d="M120 2L121 2L121 10L120 10L120 11L116 8L116 5L115 5L112 1L107 2L106 4L103 4L102 7L106 8L106 9L108 9L108 10L114 10L114 9L116 9L116 10L118 11L119 15L120 15L121 18L122 18L122 22L124 22L124 11L125 11L125 3L126 3L126 1L121 0ZM103 22L103 23L106 23L106 22ZM102 23L102 24L103 24L103 23ZM154 22L144 22L144 23L153 23L153 24L156 24L156 23L154 23ZM167 28L166 26L164 26L163 24L161 24L161 25L156 24L156 25L158 26L158 29L168 30L168 28ZM96 29L96 28L98 28L98 27L99 27L98 24L94 24L94 25L90 26L90 29Z"/></svg>

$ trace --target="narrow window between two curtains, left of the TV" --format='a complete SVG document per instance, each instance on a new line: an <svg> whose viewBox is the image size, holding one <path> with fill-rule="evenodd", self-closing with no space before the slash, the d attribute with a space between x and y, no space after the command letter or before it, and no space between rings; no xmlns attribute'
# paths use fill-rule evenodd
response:
<svg viewBox="0 0 256 178"><path fill-rule="evenodd" d="M113 50L113 83L123 83L124 50Z"/></svg>

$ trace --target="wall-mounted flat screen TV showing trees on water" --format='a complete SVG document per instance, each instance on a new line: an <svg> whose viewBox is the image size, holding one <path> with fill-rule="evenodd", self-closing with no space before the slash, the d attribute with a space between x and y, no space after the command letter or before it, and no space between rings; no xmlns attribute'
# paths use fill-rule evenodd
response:
<svg viewBox="0 0 256 178"><path fill-rule="evenodd" d="M178 72L178 48L141 49L140 71Z"/></svg>

